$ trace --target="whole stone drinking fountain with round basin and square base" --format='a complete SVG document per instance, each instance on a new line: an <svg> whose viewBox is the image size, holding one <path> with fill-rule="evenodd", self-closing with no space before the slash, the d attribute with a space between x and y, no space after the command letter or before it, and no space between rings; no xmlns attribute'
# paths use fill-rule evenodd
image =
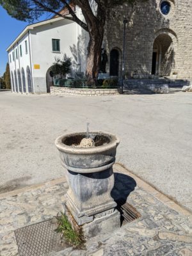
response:
<svg viewBox="0 0 192 256"><path fill-rule="evenodd" d="M84 237L120 227L120 212L111 197L113 164L120 140L107 132L78 132L60 136L55 144L67 169L65 213Z"/></svg>

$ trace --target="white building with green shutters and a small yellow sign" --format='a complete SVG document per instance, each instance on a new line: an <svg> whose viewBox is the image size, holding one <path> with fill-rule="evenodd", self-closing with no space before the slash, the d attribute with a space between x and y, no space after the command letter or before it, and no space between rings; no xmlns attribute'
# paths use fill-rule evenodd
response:
<svg viewBox="0 0 192 256"><path fill-rule="evenodd" d="M82 31L75 22L61 17L27 26L6 49L12 92L49 92L49 68L55 58L62 59L64 54L72 58L74 70L84 72L86 52L84 46L80 48L85 45L86 35Z"/></svg>

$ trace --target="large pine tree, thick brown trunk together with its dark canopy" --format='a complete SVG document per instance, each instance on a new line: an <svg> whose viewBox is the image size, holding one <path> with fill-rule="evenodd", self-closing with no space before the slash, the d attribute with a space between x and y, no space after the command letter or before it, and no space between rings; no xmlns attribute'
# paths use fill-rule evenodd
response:
<svg viewBox="0 0 192 256"><path fill-rule="evenodd" d="M0 4L15 19L33 22L43 13L48 12L79 24L90 36L86 75L91 79L97 77L99 72L107 11L118 4L134 1L136 0L0 0ZM96 4L96 12L93 11L92 4ZM81 8L84 22L77 17L72 6ZM60 10L63 8L66 8L70 15L61 14Z"/></svg>

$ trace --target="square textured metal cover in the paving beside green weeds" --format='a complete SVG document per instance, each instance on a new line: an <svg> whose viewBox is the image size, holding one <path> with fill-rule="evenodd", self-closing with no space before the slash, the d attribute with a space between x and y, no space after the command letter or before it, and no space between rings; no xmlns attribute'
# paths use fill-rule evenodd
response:
<svg viewBox="0 0 192 256"><path fill-rule="evenodd" d="M65 244L61 245L60 234L54 231L56 227L53 218L15 230L19 256L44 256L66 248Z"/></svg>

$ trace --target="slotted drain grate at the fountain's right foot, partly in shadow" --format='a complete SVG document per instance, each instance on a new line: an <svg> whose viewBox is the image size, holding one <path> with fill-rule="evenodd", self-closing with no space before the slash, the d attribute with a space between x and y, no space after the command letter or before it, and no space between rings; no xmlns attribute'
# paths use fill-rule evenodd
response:
<svg viewBox="0 0 192 256"><path fill-rule="evenodd" d="M136 209L131 204L128 204L124 200L117 200L116 204L116 208L118 209L118 211L120 211L121 214L122 225L141 217L141 214L136 211Z"/></svg>

